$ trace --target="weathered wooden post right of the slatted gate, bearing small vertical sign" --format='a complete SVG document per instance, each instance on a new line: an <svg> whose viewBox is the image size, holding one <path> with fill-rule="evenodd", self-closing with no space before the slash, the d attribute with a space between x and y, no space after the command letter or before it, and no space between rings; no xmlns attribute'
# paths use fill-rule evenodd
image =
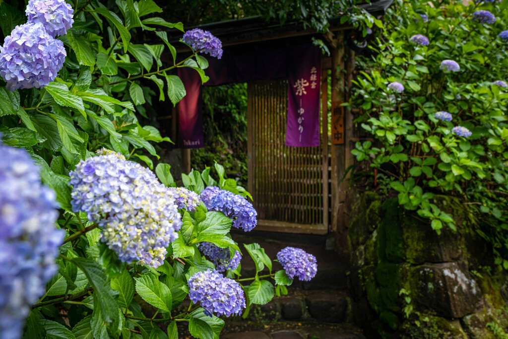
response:
<svg viewBox="0 0 508 339"><path fill-rule="evenodd" d="M339 131L338 126L344 117L343 107L340 106L344 99L344 78L342 71L344 70L344 42L343 35L338 37L337 48L332 49L332 131ZM336 119L334 120L334 116ZM340 118L340 119L338 119ZM337 132L338 133L338 132ZM345 191L341 184L342 177L345 173L345 145L339 144L344 136L332 135L331 145L331 228L336 232L336 241L340 251L347 252L347 228L345 221Z"/></svg>

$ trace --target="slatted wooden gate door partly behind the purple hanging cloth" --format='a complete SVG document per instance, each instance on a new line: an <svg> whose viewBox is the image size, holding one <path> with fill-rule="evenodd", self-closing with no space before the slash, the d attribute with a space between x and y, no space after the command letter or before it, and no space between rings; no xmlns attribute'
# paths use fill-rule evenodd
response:
<svg viewBox="0 0 508 339"><path fill-rule="evenodd" d="M257 229L327 233L328 114L323 119L321 146L289 147L284 144L288 81L249 83L247 91L248 189L258 211Z"/></svg>

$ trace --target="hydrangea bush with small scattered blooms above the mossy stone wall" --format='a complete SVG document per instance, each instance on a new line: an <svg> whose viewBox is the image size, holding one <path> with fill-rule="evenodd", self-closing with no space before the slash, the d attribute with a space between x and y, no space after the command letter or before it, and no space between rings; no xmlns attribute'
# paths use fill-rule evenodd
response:
<svg viewBox="0 0 508 339"><path fill-rule="evenodd" d="M396 1L386 18L391 24L373 43L375 56L357 59L366 72L348 103L360 108L356 121L373 139L358 142L353 154L383 176L382 191L396 191L399 203L438 233L456 230L439 201L457 197L505 269L507 7L506 1ZM415 20L420 15L428 20ZM422 35L428 44L419 43Z"/></svg>

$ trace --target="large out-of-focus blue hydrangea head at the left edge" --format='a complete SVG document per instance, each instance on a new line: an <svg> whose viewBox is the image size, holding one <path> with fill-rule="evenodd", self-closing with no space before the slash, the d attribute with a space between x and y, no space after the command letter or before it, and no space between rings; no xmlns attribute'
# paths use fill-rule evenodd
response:
<svg viewBox="0 0 508 339"><path fill-rule="evenodd" d="M24 149L0 144L0 336L21 337L30 306L44 295L57 271L65 233L55 194L40 182L39 168Z"/></svg>

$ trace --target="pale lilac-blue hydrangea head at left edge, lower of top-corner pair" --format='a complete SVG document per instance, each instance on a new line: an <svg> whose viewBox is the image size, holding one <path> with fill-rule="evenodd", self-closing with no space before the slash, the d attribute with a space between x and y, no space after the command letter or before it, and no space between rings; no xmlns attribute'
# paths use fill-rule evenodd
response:
<svg viewBox="0 0 508 339"><path fill-rule="evenodd" d="M0 47L0 75L7 88L44 87L56 77L67 52L42 23L16 26Z"/></svg>

